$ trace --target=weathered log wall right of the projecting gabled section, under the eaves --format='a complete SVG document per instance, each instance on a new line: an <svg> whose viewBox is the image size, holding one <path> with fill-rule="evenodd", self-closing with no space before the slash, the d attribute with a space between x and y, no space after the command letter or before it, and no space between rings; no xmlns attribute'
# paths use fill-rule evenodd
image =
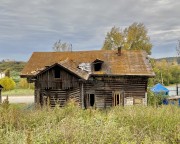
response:
<svg viewBox="0 0 180 144"><path fill-rule="evenodd" d="M147 89L146 77L121 77L110 80L99 79L85 83L85 101L87 94L95 94L95 107L107 108L113 106L113 92L123 93L123 99L145 99ZM123 101L124 104L124 101ZM133 102L133 104L136 104ZM143 103L142 103L143 104Z"/></svg>

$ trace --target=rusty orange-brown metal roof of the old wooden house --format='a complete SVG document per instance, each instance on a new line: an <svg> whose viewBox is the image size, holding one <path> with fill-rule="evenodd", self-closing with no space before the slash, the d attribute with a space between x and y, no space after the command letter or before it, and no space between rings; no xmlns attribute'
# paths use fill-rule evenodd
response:
<svg viewBox="0 0 180 144"><path fill-rule="evenodd" d="M81 63L103 61L102 69L92 73L78 69ZM120 56L114 50L76 51L76 52L34 52L21 72L22 77L35 76L49 66L58 63L80 77L97 75L154 76L147 54L139 50L122 50Z"/></svg>

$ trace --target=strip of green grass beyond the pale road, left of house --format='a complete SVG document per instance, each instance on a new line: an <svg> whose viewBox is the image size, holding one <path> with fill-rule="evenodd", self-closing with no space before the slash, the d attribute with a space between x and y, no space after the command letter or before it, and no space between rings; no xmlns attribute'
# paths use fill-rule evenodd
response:
<svg viewBox="0 0 180 144"><path fill-rule="evenodd" d="M34 95L33 89L13 89L9 91L2 91L3 96L26 96L26 95Z"/></svg>

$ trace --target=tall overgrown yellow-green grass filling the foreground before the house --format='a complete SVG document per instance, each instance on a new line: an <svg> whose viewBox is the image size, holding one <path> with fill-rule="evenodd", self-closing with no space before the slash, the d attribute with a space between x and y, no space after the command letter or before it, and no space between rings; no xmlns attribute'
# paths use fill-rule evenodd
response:
<svg viewBox="0 0 180 144"><path fill-rule="evenodd" d="M114 107L109 110L0 107L0 143L180 143L180 108Z"/></svg>

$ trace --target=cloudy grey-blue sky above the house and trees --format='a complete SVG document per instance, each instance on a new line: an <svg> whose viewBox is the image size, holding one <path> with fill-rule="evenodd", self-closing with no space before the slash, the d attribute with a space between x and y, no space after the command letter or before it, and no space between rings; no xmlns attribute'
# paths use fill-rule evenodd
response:
<svg viewBox="0 0 180 144"><path fill-rule="evenodd" d="M61 40L100 50L113 26L143 23L153 58L176 56L180 0L0 0L0 60L27 61Z"/></svg>

